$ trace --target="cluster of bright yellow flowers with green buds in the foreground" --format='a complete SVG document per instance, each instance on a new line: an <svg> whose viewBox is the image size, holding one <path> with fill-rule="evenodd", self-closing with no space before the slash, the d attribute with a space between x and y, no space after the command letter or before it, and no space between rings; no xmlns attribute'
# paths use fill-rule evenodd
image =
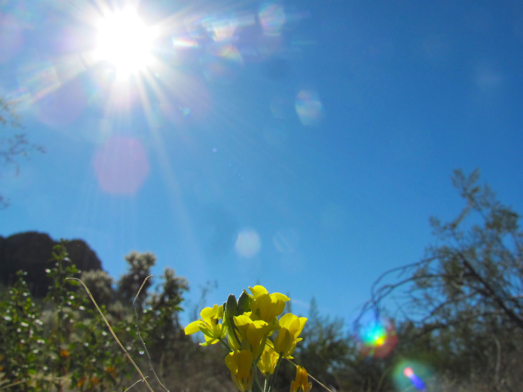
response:
<svg viewBox="0 0 523 392"><path fill-rule="evenodd" d="M279 317L289 301L286 295L271 294L260 285L249 287L249 290L251 294L244 290L237 301L231 294L223 305L202 309L201 318L191 322L185 333L201 331L205 337L202 345L221 342L230 349L225 364L240 391L272 392L279 364L282 358L292 359L291 354L302 340L299 336L307 319L292 313ZM271 340L275 332L276 338ZM265 377L263 389L256 368ZM306 383L307 372L298 368L291 391L296 392L301 387L303 392L309 392L311 385Z"/></svg>

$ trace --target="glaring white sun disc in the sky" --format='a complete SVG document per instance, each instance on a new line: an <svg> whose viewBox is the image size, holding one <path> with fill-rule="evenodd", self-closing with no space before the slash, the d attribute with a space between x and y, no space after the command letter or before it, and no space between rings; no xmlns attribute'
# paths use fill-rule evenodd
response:
<svg viewBox="0 0 523 392"><path fill-rule="evenodd" d="M134 8L107 13L96 24L95 59L111 64L118 76L144 71L154 61L157 31Z"/></svg>

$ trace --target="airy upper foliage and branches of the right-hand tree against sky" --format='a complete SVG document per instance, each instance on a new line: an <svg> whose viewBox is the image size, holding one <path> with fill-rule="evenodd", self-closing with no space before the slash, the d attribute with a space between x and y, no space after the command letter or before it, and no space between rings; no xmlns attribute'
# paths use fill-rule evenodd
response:
<svg viewBox="0 0 523 392"><path fill-rule="evenodd" d="M517 213L477 185L479 171L452 178L465 201L461 213L441 223L431 218L439 245L419 262L385 272L407 278L373 290L368 305L406 287L399 297L403 315L425 329L508 323L523 331L523 232ZM374 287L377 286L374 285Z"/></svg>

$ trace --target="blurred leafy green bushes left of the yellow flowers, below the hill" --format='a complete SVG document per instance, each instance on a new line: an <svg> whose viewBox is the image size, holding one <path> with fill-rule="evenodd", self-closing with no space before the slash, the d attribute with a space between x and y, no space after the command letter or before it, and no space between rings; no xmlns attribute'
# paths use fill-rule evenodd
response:
<svg viewBox="0 0 523 392"><path fill-rule="evenodd" d="M54 247L53 263L46 271L51 282L46 298L39 301L31 296L24 272L18 273L14 285L0 291L0 390L124 390L137 378L85 291L71 284L75 281L66 280L78 270L64 245ZM129 272L117 288L103 271L84 272L82 278L127 352L142 368L160 369L162 380L171 385L173 368L183 368L183 373L176 373L179 381L199 389L208 383L208 377L201 375L209 370L186 366L206 361L201 360L198 344L183 334L178 320L188 290L186 280L166 269L154 293L147 292L150 285L144 285L139 313L135 313L129 298L138 279L134 275L147 276L155 257L132 252L126 259ZM150 358L144 355L146 348ZM189 382L191 376L199 381Z"/></svg>

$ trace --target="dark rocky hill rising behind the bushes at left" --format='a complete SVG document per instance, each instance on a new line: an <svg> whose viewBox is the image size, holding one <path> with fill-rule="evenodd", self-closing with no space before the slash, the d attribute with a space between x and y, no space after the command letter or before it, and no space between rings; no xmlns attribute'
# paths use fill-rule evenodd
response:
<svg viewBox="0 0 523 392"><path fill-rule="evenodd" d="M54 263L51 254L57 244L48 234L38 232L13 234L6 238L0 236L0 282L12 284L17 279L17 271L26 271L31 293L37 297L45 296L50 284L45 270ZM102 269L100 259L84 240L73 239L65 248L79 270Z"/></svg>

